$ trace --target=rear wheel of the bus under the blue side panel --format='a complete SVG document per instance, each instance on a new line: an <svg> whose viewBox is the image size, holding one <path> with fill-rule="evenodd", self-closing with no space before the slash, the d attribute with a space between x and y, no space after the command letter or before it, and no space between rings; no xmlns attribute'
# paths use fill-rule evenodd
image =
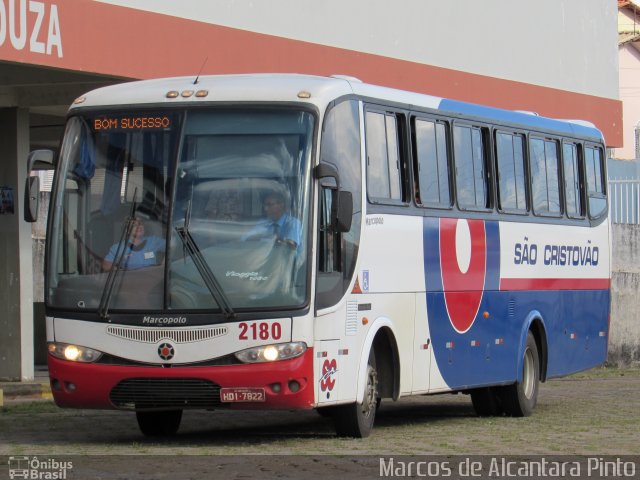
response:
<svg viewBox="0 0 640 480"><path fill-rule="evenodd" d="M538 346L529 332L522 359L522 382L502 388L502 405L507 415L528 417L538 401L540 387L540 355Z"/></svg>

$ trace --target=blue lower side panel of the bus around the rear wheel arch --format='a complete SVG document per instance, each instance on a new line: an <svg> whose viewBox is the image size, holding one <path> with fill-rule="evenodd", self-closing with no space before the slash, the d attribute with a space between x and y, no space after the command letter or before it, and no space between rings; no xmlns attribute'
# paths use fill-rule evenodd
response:
<svg viewBox="0 0 640 480"><path fill-rule="evenodd" d="M451 389L515 381L523 323L533 310L545 320L548 378L606 360L607 336L600 333L608 330L608 291L485 292L478 318L464 334L449 324L443 295L427 293L427 311L435 361Z"/></svg>

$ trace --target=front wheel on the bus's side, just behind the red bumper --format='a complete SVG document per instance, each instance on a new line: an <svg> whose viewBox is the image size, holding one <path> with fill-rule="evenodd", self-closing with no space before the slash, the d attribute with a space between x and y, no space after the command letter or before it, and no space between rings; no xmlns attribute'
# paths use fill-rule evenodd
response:
<svg viewBox="0 0 640 480"><path fill-rule="evenodd" d="M378 394L378 371L376 359L371 352L367 362L367 384L365 386L364 401L340 405L333 411L333 421L339 437L368 437L373 429L376 410L380 405Z"/></svg>

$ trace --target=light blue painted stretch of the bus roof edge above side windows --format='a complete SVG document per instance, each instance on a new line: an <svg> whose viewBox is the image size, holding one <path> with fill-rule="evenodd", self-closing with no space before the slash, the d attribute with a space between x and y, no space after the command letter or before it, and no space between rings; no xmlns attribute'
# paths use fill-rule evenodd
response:
<svg viewBox="0 0 640 480"><path fill-rule="evenodd" d="M439 110L469 117L476 117L492 123L515 124L528 129L551 131L559 135L585 137L596 142L602 139L602 134L595 127L588 127L577 123L540 117L534 114L459 102L457 100L443 99L440 102Z"/></svg>

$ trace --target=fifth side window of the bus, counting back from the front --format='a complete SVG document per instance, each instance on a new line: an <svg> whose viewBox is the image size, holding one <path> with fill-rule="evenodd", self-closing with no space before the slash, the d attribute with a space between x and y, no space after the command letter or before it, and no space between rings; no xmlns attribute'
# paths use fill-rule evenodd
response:
<svg viewBox="0 0 640 480"><path fill-rule="evenodd" d="M558 142L531 138L529 144L533 211L538 215L559 216Z"/></svg>

